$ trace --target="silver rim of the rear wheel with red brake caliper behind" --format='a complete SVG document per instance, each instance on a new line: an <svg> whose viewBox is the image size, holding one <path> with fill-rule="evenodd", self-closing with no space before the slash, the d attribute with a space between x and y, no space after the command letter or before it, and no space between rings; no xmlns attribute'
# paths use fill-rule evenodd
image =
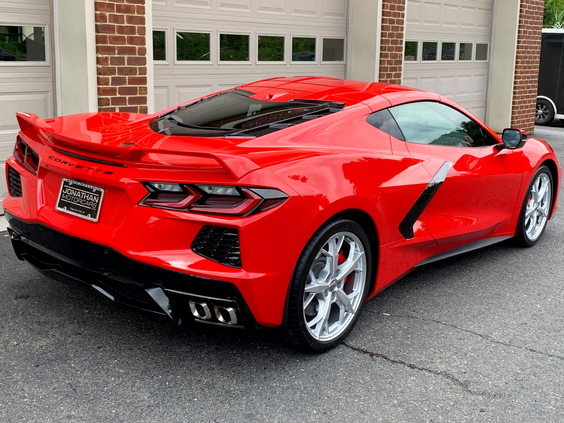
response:
<svg viewBox="0 0 564 423"><path fill-rule="evenodd" d="M366 263L364 247L351 232L333 235L315 256L303 292L303 316L316 340L332 341L349 327L364 298Z"/></svg>

